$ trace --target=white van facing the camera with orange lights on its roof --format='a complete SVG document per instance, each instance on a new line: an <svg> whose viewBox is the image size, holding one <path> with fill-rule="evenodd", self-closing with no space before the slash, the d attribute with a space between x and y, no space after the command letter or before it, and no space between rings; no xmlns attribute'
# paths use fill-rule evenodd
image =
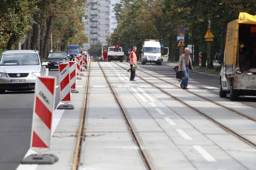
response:
<svg viewBox="0 0 256 170"><path fill-rule="evenodd" d="M146 39L142 46L141 64L156 63L161 65L161 46L157 39Z"/></svg>

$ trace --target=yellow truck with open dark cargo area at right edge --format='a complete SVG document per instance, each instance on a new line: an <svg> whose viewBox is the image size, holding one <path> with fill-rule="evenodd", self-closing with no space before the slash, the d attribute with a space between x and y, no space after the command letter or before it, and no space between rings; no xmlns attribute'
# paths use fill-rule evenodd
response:
<svg viewBox="0 0 256 170"><path fill-rule="evenodd" d="M215 60L221 62L221 98L256 96L256 16L240 12L228 23L224 55L217 52Z"/></svg>

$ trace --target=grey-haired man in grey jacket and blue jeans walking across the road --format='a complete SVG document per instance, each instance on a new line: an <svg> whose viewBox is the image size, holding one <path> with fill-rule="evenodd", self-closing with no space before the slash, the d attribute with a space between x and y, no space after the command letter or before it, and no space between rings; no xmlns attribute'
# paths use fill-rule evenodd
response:
<svg viewBox="0 0 256 170"><path fill-rule="evenodd" d="M180 83L180 88L183 88L183 89L188 89L187 86L188 86L188 77L189 77L189 67L192 70L194 70L192 67L192 62L191 62L189 53L190 53L190 49L188 47L186 47L185 53L182 54L179 59L178 71L183 72L183 78Z"/></svg>

